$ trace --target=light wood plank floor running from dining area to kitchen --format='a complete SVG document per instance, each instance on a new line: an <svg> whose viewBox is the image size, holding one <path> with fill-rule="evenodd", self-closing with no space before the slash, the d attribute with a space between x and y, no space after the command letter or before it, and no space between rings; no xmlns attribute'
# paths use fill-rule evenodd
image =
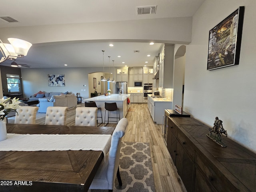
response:
<svg viewBox="0 0 256 192"><path fill-rule="evenodd" d="M75 124L75 113L75 108L68 110L67 125ZM147 104L130 104L126 118L128 127L122 140L150 143L156 192L186 192L162 137L162 125L153 122ZM44 124L44 121L45 118L38 119L36 124ZM14 122L9 120L9 123ZM116 124L108 124L108 126L116 126Z"/></svg>

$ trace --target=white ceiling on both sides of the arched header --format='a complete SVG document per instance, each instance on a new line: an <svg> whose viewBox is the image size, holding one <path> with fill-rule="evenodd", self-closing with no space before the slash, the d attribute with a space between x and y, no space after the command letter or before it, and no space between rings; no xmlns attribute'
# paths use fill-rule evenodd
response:
<svg viewBox="0 0 256 192"><path fill-rule="evenodd" d="M204 0L22 0L13 2L1 0L0 16L10 16L18 22L6 23L0 19L0 28L75 24L87 22L110 22L155 18L193 16ZM156 14L136 14L138 6L156 5ZM1 36L0 36L1 38ZM161 44L132 42L58 42L34 44L28 55L18 58L18 64L32 68L52 67L102 67L102 51L105 50L104 64L110 66L153 65ZM139 53L134 53L139 50ZM150 57L147 55L150 54ZM120 55L120 58L117 56ZM125 64L122 64L125 62ZM10 63L10 61L8 61Z"/></svg>

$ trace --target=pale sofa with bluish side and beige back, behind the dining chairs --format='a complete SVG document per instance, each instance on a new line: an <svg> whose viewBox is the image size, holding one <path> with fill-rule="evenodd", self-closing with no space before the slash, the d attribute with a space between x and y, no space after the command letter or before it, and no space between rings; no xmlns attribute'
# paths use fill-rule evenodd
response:
<svg viewBox="0 0 256 192"><path fill-rule="evenodd" d="M60 107L75 107L77 104L77 97L74 94L66 94L66 95L56 95L53 96L53 101L50 101L48 98L39 98L39 107L38 113L46 113L46 109L49 106L60 106Z"/></svg>

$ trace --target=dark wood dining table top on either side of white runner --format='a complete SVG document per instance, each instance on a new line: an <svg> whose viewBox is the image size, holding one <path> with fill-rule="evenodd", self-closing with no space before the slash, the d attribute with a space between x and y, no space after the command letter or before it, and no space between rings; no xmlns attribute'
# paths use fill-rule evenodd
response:
<svg viewBox="0 0 256 192"><path fill-rule="evenodd" d="M15 134L112 134L114 127L6 124ZM0 192L86 192L102 151L0 151Z"/></svg>

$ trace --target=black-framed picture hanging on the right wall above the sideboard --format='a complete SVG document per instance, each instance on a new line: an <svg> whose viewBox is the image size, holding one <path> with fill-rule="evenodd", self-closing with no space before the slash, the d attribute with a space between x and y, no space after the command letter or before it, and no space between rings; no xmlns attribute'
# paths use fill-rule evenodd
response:
<svg viewBox="0 0 256 192"><path fill-rule="evenodd" d="M207 70L239 64L244 6L209 31Z"/></svg>

